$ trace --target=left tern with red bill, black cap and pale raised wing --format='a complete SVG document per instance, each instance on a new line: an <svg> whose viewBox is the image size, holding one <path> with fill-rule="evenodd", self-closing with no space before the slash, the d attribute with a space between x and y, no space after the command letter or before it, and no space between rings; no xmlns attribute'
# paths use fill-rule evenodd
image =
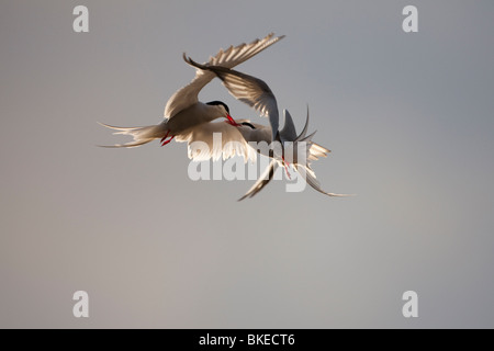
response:
<svg viewBox="0 0 494 351"><path fill-rule="evenodd" d="M206 65L233 68L252 56L259 54L272 44L282 39L284 35L274 37L271 33L262 39L256 39L250 44L229 46L226 50L220 50L216 56L211 57ZM158 125L144 127L116 127L101 123L103 126L119 131L115 134L131 135L134 140L126 144L117 144L106 147L136 147L147 144L154 139L161 139L161 146L179 137L184 131L216 118L227 118L233 125L235 120L229 115L228 106L222 101L202 103L198 94L213 78L215 73L197 69L195 78L186 87L179 89L168 100L164 121ZM278 121L277 121L278 123ZM278 124L273 125L278 131Z"/></svg>

